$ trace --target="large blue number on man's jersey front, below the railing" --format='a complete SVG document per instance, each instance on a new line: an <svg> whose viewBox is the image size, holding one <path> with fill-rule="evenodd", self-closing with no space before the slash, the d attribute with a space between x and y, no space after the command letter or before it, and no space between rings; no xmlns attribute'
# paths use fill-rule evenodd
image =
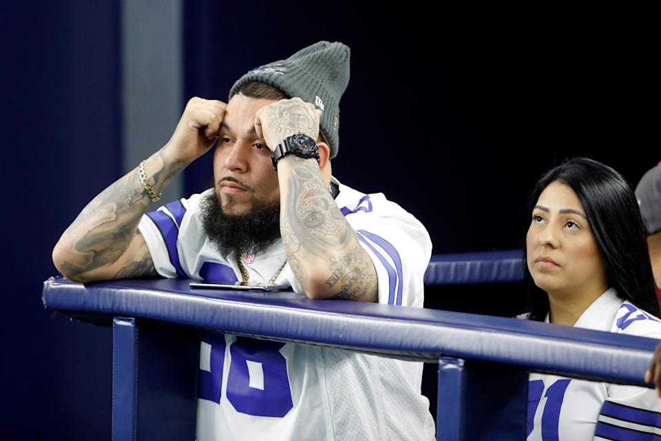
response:
<svg viewBox="0 0 661 441"><path fill-rule="evenodd" d="M200 398L220 402L222 370L225 353L224 336L222 342L213 342L211 346L211 373L200 370ZM207 341L207 338L204 338ZM229 347L231 365L227 378L226 396L236 411L254 416L283 417L293 407L287 362L280 353L284 343L253 340L237 337ZM214 360L216 362L214 362ZM248 367L251 362L252 378ZM261 381L260 381L261 380Z"/></svg>

